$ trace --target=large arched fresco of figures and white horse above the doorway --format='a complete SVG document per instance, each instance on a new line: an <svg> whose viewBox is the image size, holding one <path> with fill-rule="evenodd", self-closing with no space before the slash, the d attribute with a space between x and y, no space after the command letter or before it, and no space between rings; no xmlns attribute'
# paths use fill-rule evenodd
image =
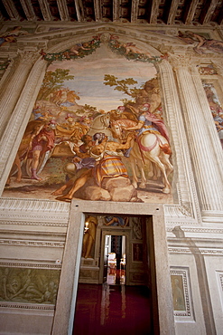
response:
<svg viewBox="0 0 223 335"><path fill-rule="evenodd" d="M3 196L172 203L172 148L154 63L118 36L49 63Z"/></svg>

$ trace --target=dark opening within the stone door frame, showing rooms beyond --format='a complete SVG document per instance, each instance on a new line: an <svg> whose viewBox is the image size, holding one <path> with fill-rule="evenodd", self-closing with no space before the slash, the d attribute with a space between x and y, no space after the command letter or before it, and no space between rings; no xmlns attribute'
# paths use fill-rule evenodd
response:
<svg viewBox="0 0 223 335"><path fill-rule="evenodd" d="M147 235L142 216L86 216L73 334L153 334Z"/></svg>

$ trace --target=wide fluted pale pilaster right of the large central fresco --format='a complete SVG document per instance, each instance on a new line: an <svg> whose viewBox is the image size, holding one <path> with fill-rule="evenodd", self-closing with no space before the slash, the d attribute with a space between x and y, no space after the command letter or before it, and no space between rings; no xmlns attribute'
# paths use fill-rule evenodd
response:
<svg viewBox="0 0 223 335"><path fill-rule="evenodd" d="M213 120L208 120L209 104L205 97L199 72L190 57L172 56L184 107L184 122L190 146L190 158L194 168L200 198L201 215L204 220L223 212L222 176L213 146ZM212 123L211 123L211 122ZM217 134L216 134L217 136ZM220 147L218 145L218 147ZM218 154L222 155L222 152Z"/></svg>

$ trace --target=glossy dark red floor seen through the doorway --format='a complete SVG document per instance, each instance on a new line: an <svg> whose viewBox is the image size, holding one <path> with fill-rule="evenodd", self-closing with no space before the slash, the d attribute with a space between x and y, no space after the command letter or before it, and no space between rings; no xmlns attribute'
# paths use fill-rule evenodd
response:
<svg viewBox="0 0 223 335"><path fill-rule="evenodd" d="M79 283L73 334L152 335L149 290L144 286Z"/></svg>

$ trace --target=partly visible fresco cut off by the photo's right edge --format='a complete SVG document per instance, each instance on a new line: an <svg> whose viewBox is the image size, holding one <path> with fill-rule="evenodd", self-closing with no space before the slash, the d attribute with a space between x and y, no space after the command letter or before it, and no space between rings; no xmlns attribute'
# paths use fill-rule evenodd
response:
<svg viewBox="0 0 223 335"><path fill-rule="evenodd" d="M203 82L203 87L209 101L209 108L211 110L213 120L218 131L218 137L223 148L223 109L220 105L220 101L218 100L218 94L214 85L212 83Z"/></svg>

